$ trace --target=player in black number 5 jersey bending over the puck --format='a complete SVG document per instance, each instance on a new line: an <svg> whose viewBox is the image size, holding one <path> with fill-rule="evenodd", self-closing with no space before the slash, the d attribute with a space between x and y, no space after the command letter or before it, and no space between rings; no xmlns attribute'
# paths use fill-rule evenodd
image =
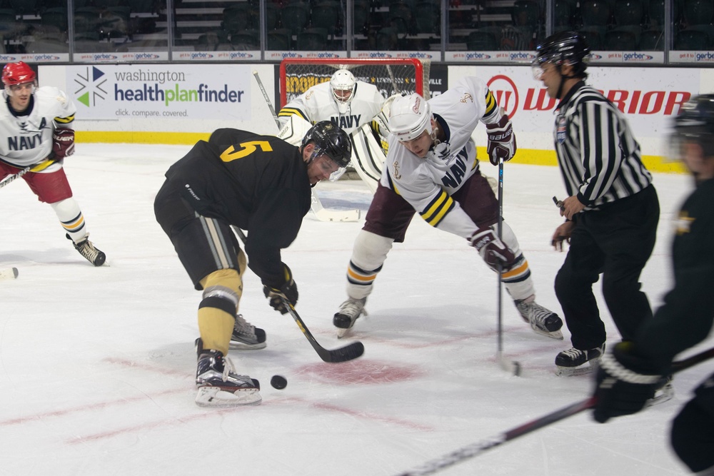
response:
<svg viewBox="0 0 714 476"><path fill-rule="evenodd" d="M224 128L198 141L166 172L154 211L171 238L193 285L198 305L196 403L257 405L257 380L236 374L229 348L265 347L265 332L238 314L242 275L249 266L270 305L287 310L298 288L281 260L310 210L311 187L350 163L347 134L329 121L317 123L300 147L275 136ZM231 226L248 231L245 254Z"/></svg>

